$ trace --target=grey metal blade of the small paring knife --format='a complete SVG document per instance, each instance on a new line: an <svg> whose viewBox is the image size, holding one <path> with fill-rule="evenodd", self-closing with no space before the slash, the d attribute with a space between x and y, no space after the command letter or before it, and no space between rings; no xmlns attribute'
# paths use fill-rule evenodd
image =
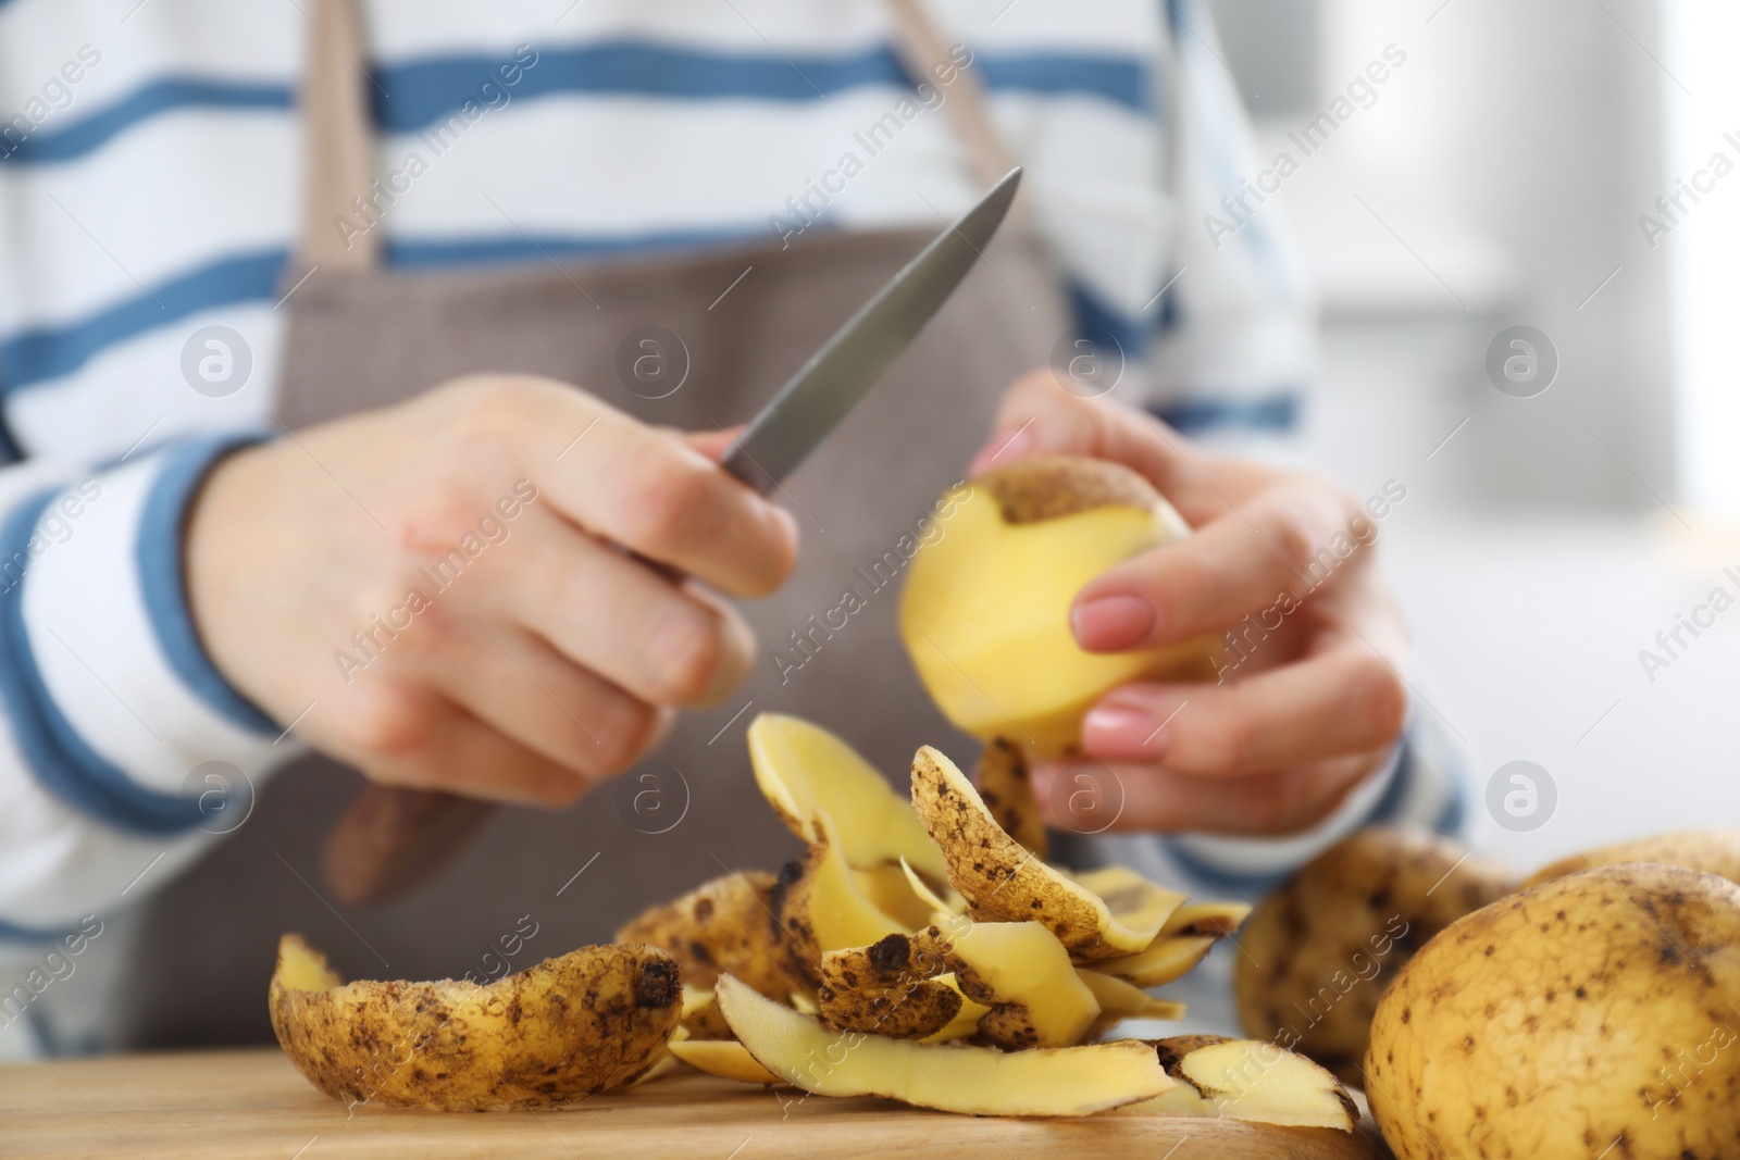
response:
<svg viewBox="0 0 1740 1160"><path fill-rule="evenodd" d="M1009 212L1016 165L833 332L760 409L720 464L762 496L804 463L950 299Z"/></svg>

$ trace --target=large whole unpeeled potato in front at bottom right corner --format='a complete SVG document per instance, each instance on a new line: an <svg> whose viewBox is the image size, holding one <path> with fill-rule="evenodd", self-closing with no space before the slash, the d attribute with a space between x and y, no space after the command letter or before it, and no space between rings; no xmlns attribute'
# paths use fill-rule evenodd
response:
<svg viewBox="0 0 1740 1160"><path fill-rule="evenodd" d="M1401 1160L1733 1157L1740 885L1585 870L1451 923L1385 991L1366 1096Z"/></svg>

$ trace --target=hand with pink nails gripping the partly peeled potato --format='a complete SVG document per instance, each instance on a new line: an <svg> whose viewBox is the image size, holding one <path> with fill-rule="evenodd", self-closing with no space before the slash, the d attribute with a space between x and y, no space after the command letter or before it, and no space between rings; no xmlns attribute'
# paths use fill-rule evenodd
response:
<svg viewBox="0 0 1740 1160"><path fill-rule="evenodd" d="M1131 683L1094 704L1088 758L1034 769L1047 810L1068 809L1058 777L1110 770L1117 830L1296 833L1380 767L1408 710L1408 630L1371 544L1406 489L1368 510L1315 477L1213 456L1143 412L1079 398L1049 370L1009 390L973 471L1032 454L1122 463L1195 529L1081 590L1082 649L1230 633L1218 683Z"/></svg>

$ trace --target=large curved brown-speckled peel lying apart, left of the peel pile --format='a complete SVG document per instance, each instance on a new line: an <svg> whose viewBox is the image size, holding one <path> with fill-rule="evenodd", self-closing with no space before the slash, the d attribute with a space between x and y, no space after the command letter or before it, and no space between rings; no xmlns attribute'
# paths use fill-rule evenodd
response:
<svg viewBox="0 0 1740 1160"><path fill-rule="evenodd" d="M682 988L677 963L652 946L583 946L489 984L345 984L287 934L270 1010L284 1054L332 1099L560 1108L658 1063L682 1014Z"/></svg>

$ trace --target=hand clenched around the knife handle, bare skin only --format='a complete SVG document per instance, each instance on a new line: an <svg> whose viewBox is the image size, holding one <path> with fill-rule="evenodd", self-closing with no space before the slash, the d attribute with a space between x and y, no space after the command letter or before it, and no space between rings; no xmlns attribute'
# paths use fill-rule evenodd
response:
<svg viewBox="0 0 1740 1160"><path fill-rule="evenodd" d="M240 450L188 515L195 624L242 694L374 781L571 802L748 671L713 590L773 591L797 527L719 470L726 443L473 376Z"/></svg>

